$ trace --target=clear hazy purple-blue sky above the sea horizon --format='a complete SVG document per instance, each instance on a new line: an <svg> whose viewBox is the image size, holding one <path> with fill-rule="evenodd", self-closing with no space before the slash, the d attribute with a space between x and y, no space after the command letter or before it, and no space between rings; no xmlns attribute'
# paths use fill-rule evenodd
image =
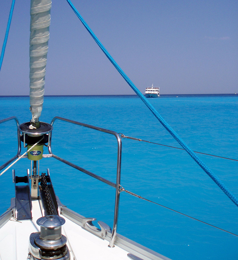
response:
<svg viewBox="0 0 238 260"><path fill-rule="evenodd" d="M2 46L11 0L0 1ZM238 1L72 0L145 92L238 93ZM16 0L0 95L29 94L30 0ZM52 0L46 95L134 94L66 0Z"/></svg>

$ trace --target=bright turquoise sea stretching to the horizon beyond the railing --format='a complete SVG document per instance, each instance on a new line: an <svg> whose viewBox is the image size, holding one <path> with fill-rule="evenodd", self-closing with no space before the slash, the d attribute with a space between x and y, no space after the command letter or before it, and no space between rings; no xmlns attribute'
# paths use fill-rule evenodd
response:
<svg viewBox="0 0 238 260"><path fill-rule="evenodd" d="M162 95L149 101L192 150L238 160L237 97L235 94ZM27 122L31 119L28 108L28 97L0 97L0 119L17 116L20 123ZM54 116L180 147L134 95L46 96L40 120L50 123ZM0 138L2 165L17 151L14 121L0 125ZM121 185L126 190L238 234L237 206L185 151L129 139L123 139L122 146ZM116 181L117 143L113 136L56 121L52 151ZM238 197L238 162L198 156ZM18 176L24 176L30 161L21 159L13 168ZM46 172L47 168L63 204L112 227L114 188L53 158L40 161L40 172ZM0 178L0 213L3 213L14 197L12 171ZM120 196L118 233L173 260L238 259L237 236L125 192Z"/></svg>

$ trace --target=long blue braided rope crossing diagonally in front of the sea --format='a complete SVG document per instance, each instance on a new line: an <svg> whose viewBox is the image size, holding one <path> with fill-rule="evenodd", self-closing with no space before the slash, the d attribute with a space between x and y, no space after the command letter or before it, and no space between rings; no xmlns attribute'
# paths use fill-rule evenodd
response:
<svg viewBox="0 0 238 260"><path fill-rule="evenodd" d="M124 73L124 71L119 67L119 65L115 62L115 60L112 58L112 56L108 53L108 51L105 49L105 47L102 45L102 43L98 40L96 35L93 33L93 31L90 29L90 27L87 25L87 23L84 21L82 16L79 14L78 10L74 7L72 2L70 0L67 0L73 11L76 13L80 21L83 23L87 31L90 33L90 35L93 37L95 42L97 42L98 46L101 48L101 50L105 53L107 58L112 62L114 67L118 70L118 72L122 75L122 77L125 79L125 81L129 84L129 86L134 90L134 92L140 97L140 99L145 103L145 105L150 109L150 111L154 114L154 116L159 120L159 122L165 127L165 129L173 136L173 138L186 150L186 152L195 160L196 163L203 169L203 171L208 174L209 177L212 178L212 180L218 185L218 187L223 190L223 192L228 196L228 198L231 199L231 201L234 202L234 204L238 207L238 199L233 195L233 193L223 184L223 182L203 163L203 161L185 144L185 142L179 137L179 135L170 127L167 122L160 116L160 114L156 111L156 109L151 105L151 103L145 98L145 96L140 92L139 89L134 85L134 83L128 78L128 76Z"/></svg>

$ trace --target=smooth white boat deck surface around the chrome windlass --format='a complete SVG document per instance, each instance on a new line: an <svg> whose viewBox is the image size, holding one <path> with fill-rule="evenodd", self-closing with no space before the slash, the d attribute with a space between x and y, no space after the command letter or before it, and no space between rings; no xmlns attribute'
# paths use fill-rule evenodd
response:
<svg viewBox="0 0 238 260"><path fill-rule="evenodd" d="M26 260L28 257L29 237L40 231L36 220L42 216L38 201L32 201L33 220L16 221L11 218L0 229L0 259ZM65 218L64 216L62 216ZM66 231L67 230L67 231ZM107 240L100 239L82 229L71 220L65 218L62 234L67 237L67 245L71 251L71 259L127 259L128 252L115 246L109 248Z"/></svg>

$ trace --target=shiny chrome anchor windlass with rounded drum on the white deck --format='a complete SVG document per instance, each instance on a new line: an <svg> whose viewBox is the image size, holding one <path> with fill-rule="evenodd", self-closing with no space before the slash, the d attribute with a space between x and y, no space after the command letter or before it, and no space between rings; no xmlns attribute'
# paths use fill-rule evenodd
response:
<svg viewBox="0 0 238 260"><path fill-rule="evenodd" d="M65 219L48 215L37 219L40 232L32 233L29 239L29 253L32 259L69 260L67 238L61 233Z"/></svg>

